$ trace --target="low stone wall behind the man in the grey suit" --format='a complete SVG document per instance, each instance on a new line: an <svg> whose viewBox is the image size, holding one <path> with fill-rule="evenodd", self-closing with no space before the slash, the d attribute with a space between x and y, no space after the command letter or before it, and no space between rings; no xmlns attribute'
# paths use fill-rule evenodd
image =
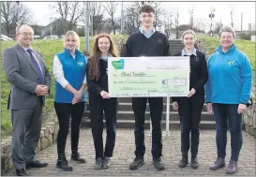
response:
<svg viewBox="0 0 256 177"><path fill-rule="evenodd" d="M38 140L38 147L36 148L36 153L52 145L57 139L57 133L59 130L59 125L56 117L45 125L42 125L40 139ZM10 156L10 137L1 142L1 175L3 175L8 170L11 170L12 160Z"/></svg>

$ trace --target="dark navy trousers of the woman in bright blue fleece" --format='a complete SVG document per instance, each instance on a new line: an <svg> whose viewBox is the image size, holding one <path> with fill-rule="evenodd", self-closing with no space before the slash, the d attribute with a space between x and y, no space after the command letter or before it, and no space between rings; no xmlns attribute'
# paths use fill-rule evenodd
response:
<svg viewBox="0 0 256 177"><path fill-rule="evenodd" d="M242 148L242 114L237 113L238 105L213 104L216 120L216 142L218 157L225 158L227 146L228 123L231 133L231 159L237 161Z"/></svg>

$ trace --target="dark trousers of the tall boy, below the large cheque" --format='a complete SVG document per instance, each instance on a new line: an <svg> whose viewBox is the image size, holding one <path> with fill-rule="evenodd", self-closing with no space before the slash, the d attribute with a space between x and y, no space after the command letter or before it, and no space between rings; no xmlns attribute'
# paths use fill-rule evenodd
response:
<svg viewBox="0 0 256 177"><path fill-rule="evenodd" d="M161 116L162 116L162 97L132 97L132 109L135 115L135 145L136 156L143 157L145 153L144 144L144 113L146 101L148 99L150 107L150 116L152 122L152 149L153 158L158 158L162 154L162 132L161 132Z"/></svg>

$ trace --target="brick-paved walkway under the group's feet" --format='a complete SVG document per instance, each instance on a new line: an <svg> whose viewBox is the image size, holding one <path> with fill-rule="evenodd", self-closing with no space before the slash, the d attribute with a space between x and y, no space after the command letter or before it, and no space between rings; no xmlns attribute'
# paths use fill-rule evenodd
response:
<svg viewBox="0 0 256 177"><path fill-rule="evenodd" d="M85 164L77 164L73 161L70 163L73 166L73 171L61 171L55 168L56 163L56 144L38 153L37 158L41 161L48 162L49 166L43 169L28 170L32 176L224 176L225 169L212 171L208 170L209 165L216 159L216 143L215 131L203 130L201 131L201 142L199 150L198 170L193 170L188 167L186 169L179 169L177 167L180 160L180 132L173 130L170 136L165 136L163 132L163 161L165 162L166 170L155 170L152 165L152 157L150 153L151 137L148 136L149 130L145 132L146 155L145 164L139 170L129 170L128 165L134 158L134 134L132 129L117 129L116 145L114 155L112 158L112 166L107 170L94 170L95 152L90 129L81 130L81 140L79 150L81 155L86 158ZM104 133L105 137L105 133ZM255 176L255 139L253 139L247 132L243 132L244 144L241 150L239 167L240 170L235 176ZM70 157L70 139L67 142L68 159ZM229 162L230 157L230 136L228 136L227 158L226 163ZM15 175L15 170L11 170L8 176Z"/></svg>

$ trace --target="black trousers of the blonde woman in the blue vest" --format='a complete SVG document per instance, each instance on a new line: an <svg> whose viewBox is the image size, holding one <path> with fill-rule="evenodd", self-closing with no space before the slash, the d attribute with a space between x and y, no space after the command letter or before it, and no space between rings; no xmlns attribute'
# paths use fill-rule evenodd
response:
<svg viewBox="0 0 256 177"><path fill-rule="evenodd" d="M68 137L70 115L71 115L71 151L72 154L78 153L78 142L80 134L80 125L82 122L85 102L54 103L54 108L59 121L59 132L57 136L58 154L65 153L66 141Z"/></svg>

